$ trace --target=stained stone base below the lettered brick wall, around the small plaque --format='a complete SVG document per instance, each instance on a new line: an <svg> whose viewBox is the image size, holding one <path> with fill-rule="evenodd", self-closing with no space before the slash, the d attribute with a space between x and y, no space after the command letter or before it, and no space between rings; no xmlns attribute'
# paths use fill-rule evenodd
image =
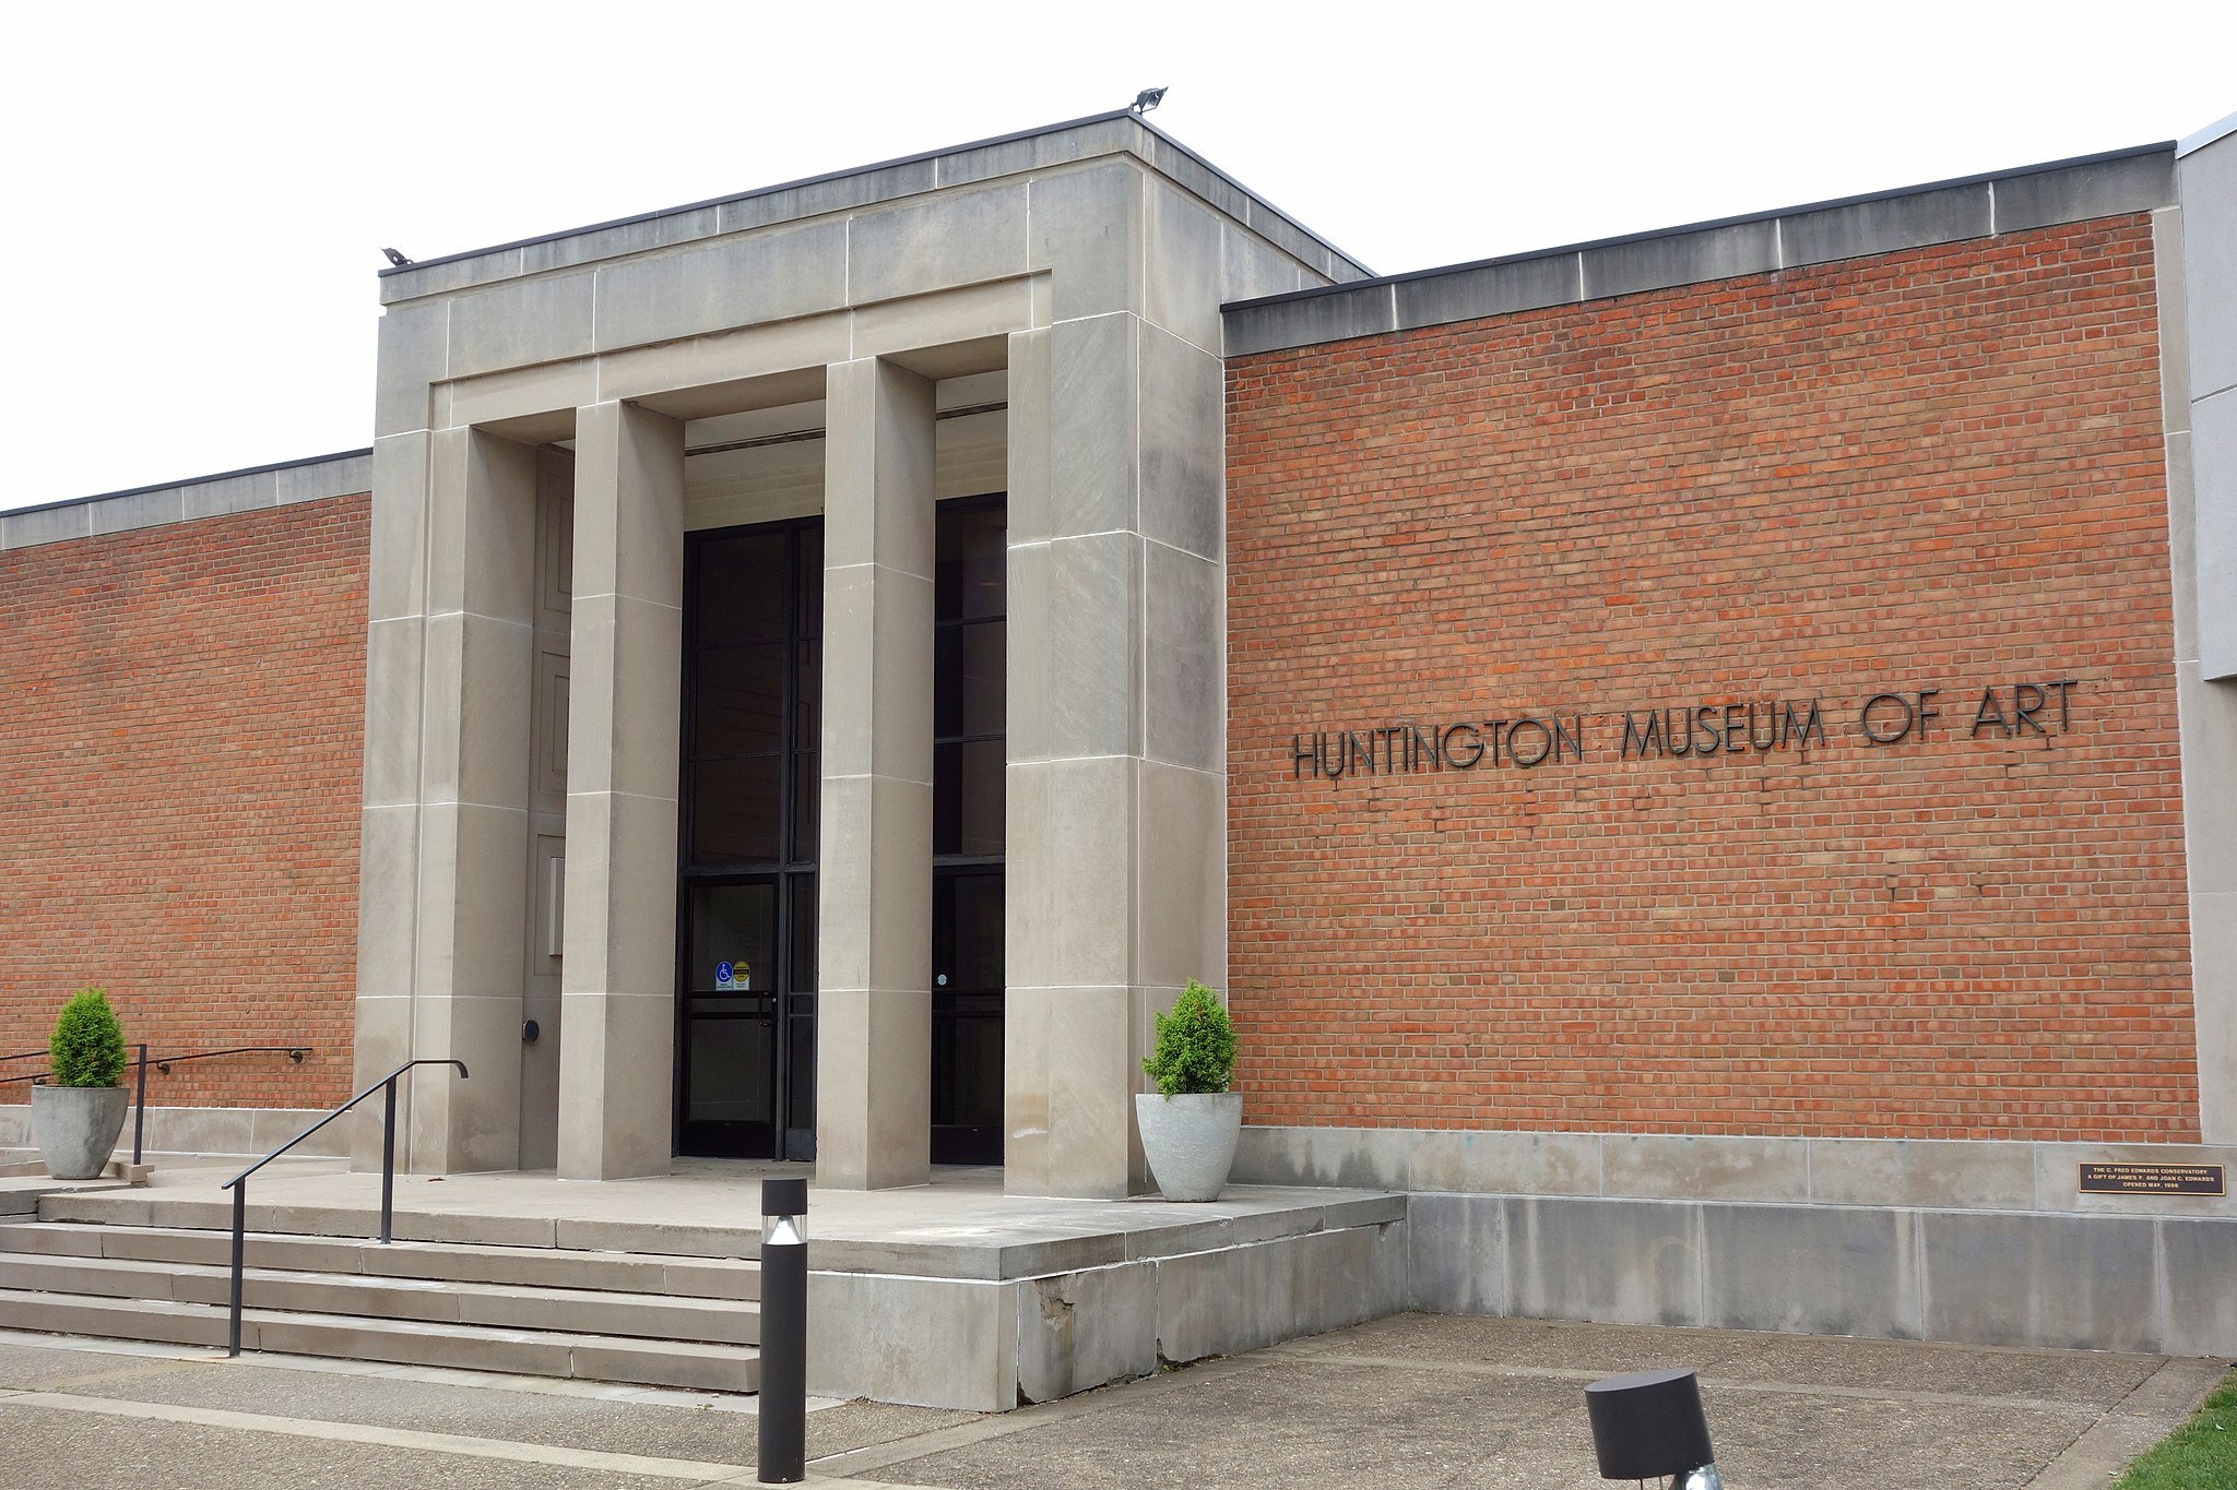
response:
<svg viewBox="0 0 2237 1490"><path fill-rule="evenodd" d="M2237 1200L2080 1195L2197 1144L1244 1128L1250 1184L1412 1191L1432 1314L2237 1354Z"/></svg>

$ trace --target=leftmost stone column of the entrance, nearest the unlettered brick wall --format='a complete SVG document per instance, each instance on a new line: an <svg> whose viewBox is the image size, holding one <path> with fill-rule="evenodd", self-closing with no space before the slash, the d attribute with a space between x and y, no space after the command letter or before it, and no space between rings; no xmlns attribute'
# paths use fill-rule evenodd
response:
<svg viewBox="0 0 2237 1490"><path fill-rule="evenodd" d="M403 1164L519 1164L535 449L476 429L383 442L367 639L360 1083L407 1059ZM378 1121L360 1162L378 1164Z"/></svg>

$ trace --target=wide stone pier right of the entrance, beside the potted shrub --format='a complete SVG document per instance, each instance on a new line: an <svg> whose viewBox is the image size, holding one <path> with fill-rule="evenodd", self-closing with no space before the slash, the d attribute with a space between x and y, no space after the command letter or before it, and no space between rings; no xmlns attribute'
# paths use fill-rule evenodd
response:
<svg viewBox="0 0 2237 1490"><path fill-rule="evenodd" d="M1011 1193L1145 1188L1152 1016L1226 983L1221 418L1134 313L1009 337Z"/></svg>

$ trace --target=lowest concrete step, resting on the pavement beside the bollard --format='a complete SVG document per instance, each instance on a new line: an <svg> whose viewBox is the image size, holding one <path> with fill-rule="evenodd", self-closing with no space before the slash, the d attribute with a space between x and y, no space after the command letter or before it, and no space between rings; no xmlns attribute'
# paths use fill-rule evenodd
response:
<svg viewBox="0 0 2237 1490"><path fill-rule="evenodd" d="M0 1327L219 1349L226 1345L224 1307L179 1300L0 1289ZM550 1329L338 1318L282 1309L244 1309L242 1349L521 1376L626 1381L698 1392L754 1392L761 1385L761 1356L749 1345L617 1340Z"/></svg>

